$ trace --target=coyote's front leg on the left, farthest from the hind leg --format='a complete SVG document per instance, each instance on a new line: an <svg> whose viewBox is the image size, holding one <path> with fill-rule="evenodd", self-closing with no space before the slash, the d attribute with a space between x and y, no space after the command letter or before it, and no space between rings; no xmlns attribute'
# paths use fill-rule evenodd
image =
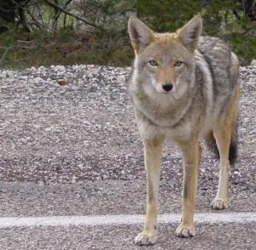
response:
<svg viewBox="0 0 256 250"><path fill-rule="evenodd" d="M147 212L143 232L137 235L137 245L151 245L157 235L157 195L163 139L144 141L144 162L147 172Z"/></svg>

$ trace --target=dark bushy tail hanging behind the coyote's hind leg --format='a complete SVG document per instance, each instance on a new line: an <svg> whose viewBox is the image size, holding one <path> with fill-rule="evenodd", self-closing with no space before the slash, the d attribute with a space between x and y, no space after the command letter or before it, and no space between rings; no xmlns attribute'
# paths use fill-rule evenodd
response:
<svg viewBox="0 0 256 250"><path fill-rule="evenodd" d="M209 150L212 151L219 159L218 146L213 136L213 132L211 131L209 134L207 134L205 139L206 139L207 147L209 148ZM231 165L236 162L237 141L238 141L238 136L237 136L237 123L236 123L236 127L233 128L232 130L231 141L230 141L229 160Z"/></svg>

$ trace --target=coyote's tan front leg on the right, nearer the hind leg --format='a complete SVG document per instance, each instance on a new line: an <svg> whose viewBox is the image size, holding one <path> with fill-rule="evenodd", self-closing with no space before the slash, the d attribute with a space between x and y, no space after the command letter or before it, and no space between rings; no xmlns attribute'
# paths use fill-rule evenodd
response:
<svg viewBox="0 0 256 250"><path fill-rule="evenodd" d="M183 217L177 227L179 237L195 236L194 212L201 145L196 141L181 144L183 151Z"/></svg>

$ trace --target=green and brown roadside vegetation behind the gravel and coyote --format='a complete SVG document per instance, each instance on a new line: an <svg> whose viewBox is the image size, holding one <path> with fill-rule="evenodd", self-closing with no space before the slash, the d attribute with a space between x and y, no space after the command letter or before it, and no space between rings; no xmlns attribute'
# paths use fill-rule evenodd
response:
<svg viewBox="0 0 256 250"><path fill-rule="evenodd" d="M0 68L131 64L129 15L175 31L195 14L204 35L223 38L241 65L256 58L255 0L1 0Z"/></svg>

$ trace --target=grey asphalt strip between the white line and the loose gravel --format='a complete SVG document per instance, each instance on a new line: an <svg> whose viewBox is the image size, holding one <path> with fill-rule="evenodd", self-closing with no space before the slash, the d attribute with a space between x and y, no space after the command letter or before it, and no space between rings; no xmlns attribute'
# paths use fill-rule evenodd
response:
<svg viewBox="0 0 256 250"><path fill-rule="evenodd" d="M167 182L160 182L159 213L181 213L180 192L172 190ZM224 211L210 208L215 195L212 187L207 192L199 190L195 212L256 212L255 192L230 192L229 207ZM142 214L146 210L146 183L142 179L49 185L0 183L0 201L2 217Z"/></svg>

